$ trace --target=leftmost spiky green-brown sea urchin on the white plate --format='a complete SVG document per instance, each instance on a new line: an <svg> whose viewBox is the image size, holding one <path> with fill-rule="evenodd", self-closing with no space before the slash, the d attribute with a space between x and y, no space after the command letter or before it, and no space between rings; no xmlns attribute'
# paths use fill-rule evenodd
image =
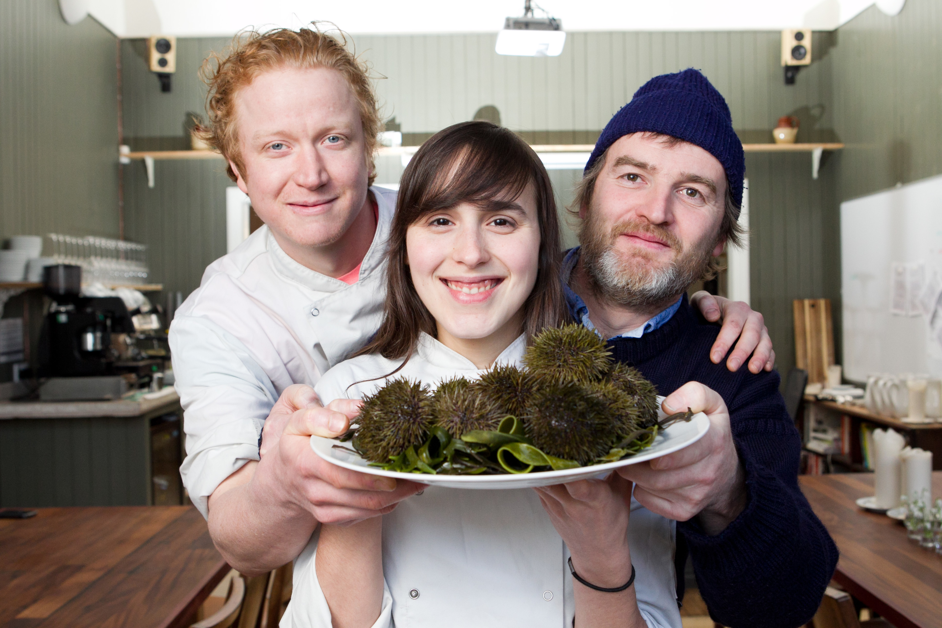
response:
<svg viewBox="0 0 942 628"><path fill-rule="evenodd" d="M354 443L365 459L387 462L428 438L432 425L429 389L406 378L390 379L360 407Z"/></svg>

